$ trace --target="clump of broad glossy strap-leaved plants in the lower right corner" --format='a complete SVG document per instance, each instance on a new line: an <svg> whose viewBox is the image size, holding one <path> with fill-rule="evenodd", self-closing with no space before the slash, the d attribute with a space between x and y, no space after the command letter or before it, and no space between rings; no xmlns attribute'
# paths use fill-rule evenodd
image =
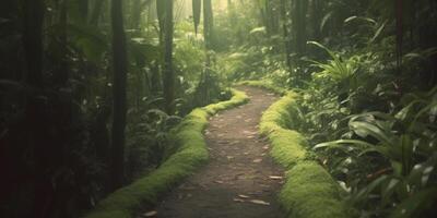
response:
<svg viewBox="0 0 437 218"><path fill-rule="evenodd" d="M404 107L392 114L368 112L351 117L349 128L358 140L315 146L316 149L339 149L347 154L350 162L378 161L376 168L362 169L345 181L351 186L351 204L363 209L376 204L377 209L368 213L378 216L422 217L429 214L429 204L435 198L424 193L433 193L436 185L434 144L437 138L433 124L436 90L405 95ZM380 171L381 168L385 170ZM369 181L363 181L366 177Z"/></svg>

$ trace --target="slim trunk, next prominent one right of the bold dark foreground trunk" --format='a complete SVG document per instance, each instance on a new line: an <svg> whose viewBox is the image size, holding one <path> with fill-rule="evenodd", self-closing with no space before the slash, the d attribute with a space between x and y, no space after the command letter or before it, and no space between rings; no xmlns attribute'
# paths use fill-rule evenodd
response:
<svg viewBox="0 0 437 218"><path fill-rule="evenodd" d="M173 0L165 0L165 49L164 49L164 98L166 102L166 112L174 113L174 99L175 99L175 76L173 72Z"/></svg>

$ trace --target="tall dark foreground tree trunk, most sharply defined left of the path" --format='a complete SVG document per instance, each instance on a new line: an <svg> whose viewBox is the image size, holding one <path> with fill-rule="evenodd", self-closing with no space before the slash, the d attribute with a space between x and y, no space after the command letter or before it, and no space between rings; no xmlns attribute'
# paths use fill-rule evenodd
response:
<svg viewBox="0 0 437 218"><path fill-rule="evenodd" d="M113 61L114 61L114 121L111 147L111 190L123 184L125 126L127 110L127 51L123 29L122 2L111 0Z"/></svg>

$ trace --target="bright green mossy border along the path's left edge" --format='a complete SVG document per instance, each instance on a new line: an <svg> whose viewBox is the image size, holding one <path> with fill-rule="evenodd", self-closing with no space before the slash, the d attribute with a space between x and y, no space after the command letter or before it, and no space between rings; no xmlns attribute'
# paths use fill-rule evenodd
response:
<svg viewBox="0 0 437 218"><path fill-rule="evenodd" d="M172 138L178 149L155 171L132 184L117 190L98 203L86 218L130 218L145 205L154 205L160 196L168 192L182 179L192 174L208 160L203 130L208 118L249 100L243 92L233 89L233 98L227 101L194 109L181 123L172 130Z"/></svg>

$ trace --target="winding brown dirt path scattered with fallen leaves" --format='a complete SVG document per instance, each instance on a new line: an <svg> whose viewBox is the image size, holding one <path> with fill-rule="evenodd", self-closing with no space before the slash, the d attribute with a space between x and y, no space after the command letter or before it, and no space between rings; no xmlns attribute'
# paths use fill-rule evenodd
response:
<svg viewBox="0 0 437 218"><path fill-rule="evenodd" d="M239 89L250 102L211 119L205 131L210 162L163 201L157 217L284 217L276 203L283 171L258 135L262 111L277 97L259 88Z"/></svg>

